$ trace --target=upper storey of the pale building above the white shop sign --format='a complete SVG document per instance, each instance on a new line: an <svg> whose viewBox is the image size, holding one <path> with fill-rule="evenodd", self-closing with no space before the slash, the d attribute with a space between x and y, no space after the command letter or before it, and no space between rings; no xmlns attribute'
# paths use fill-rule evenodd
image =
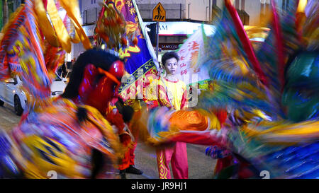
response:
<svg viewBox="0 0 319 193"><path fill-rule="evenodd" d="M211 21L210 18L221 10L224 0L136 0L144 20L152 19L152 9L160 2L168 19ZM232 0L237 11L245 11L250 18L247 25L258 25L260 13L269 6L270 0ZM277 0L277 4L287 0Z"/></svg>

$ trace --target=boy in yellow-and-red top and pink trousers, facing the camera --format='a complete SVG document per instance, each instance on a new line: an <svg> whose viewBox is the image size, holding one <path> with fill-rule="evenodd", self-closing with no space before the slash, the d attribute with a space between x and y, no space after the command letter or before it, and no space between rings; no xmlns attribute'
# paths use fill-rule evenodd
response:
<svg viewBox="0 0 319 193"><path fill-rule="evenodd" d="M150 108L166 106L174 110L186 108L187 90L183 81L175 76L179 57L175 52L166 52L162 64L167 75L150 84L147 91L147 105ZM160 179L170 179L169 163L172 163L174 178L187 179L189 166L187 163L186 143L177 142L172 147L157 149L157 167Z"/></svg>

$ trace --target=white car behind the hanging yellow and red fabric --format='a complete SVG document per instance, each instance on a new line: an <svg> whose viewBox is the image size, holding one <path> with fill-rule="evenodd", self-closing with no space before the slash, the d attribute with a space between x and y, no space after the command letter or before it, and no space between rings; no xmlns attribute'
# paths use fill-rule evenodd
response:
<svg viewBox="0 0 319 193"><path fill-rule="evenodd" d="M67 86L65 78L61 78L56 74L55 81L51 84L51 97L61 95ZM26 93L21 89L22 81L19 76L8 78L5 81L0 81L0 106L8 103L14 107L16 115L22 115L26 109L27 98Z"/></svg>

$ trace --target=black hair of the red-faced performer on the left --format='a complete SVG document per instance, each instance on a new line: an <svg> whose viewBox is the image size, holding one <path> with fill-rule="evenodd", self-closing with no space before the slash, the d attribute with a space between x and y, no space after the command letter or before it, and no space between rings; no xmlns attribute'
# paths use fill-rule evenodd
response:
<svg viewBox="0 0 319 193"><path fill-rule="evenodd" d="M111 64L120 60L114 54L108 53L102 49L89 49L82 53L74 63L69 83L62 94L62 98L76 98L79 95L79 86L82 83L84 68L88 64L93 64L103 70L108 71Z"/></svg>

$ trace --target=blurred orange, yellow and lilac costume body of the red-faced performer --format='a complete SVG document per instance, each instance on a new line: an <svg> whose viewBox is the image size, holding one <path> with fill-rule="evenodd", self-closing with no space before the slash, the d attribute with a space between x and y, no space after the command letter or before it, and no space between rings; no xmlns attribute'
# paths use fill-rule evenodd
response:
<svg viewBox="0 0 319 193"><path fill-rule="evenodd" d="M79 108L86 110L84 122L77 117ZM93 107L57 98L38 112L37 119L27 119L13 129L12 136L11 158L23 177L47 178L50 171L57 172L58 178L115 177L114 153L121 148L118 136ZM105 164L94 168L92 159L100 152Z"/></svg>

